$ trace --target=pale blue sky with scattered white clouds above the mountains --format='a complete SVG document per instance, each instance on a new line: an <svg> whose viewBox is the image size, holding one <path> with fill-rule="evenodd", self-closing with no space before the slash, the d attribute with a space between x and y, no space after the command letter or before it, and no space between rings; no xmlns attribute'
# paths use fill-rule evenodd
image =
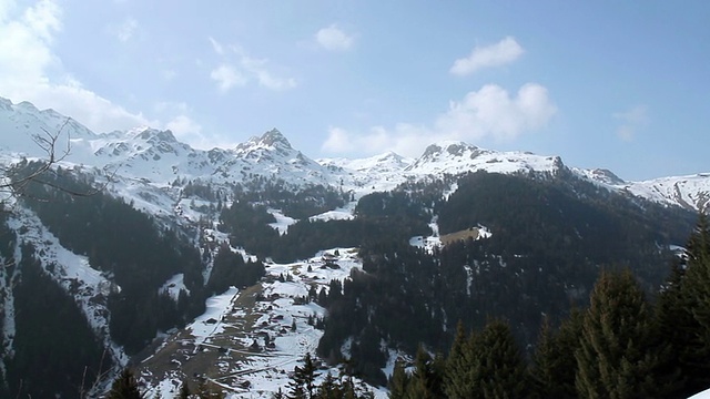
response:
<svg viewBox="0 0 710 399"><path fill-rule="evenodd" d="M0 96L313 158L444 140L710 172L710 2L0 0Z"/></svg>

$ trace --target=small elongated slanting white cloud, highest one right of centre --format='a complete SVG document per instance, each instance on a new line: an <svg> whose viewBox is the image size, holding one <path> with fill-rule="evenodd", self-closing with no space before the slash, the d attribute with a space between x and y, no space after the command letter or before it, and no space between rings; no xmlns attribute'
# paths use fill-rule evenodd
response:
<svg viewBox="0 0 710 399"><path fill-rule="evenodd" d="M515 38L507 37L495 44L477 45L467 58L456 60L449 72L467 75L484 68L505 65L517 60L524 52Z"/></svg>

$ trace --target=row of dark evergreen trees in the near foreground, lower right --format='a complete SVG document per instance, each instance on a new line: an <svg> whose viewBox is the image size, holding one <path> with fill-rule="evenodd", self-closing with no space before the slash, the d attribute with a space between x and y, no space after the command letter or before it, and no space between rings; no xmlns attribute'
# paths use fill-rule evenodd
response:
<svg viewBox="0 0 710 399"><path fill-rule="evenodd" d="M398 360L389 398L687 398L710 387L710 228L701 215L656 300L628 270L604 270L586 308L546 318L526 357L501 318L446 356Z"/></svg>

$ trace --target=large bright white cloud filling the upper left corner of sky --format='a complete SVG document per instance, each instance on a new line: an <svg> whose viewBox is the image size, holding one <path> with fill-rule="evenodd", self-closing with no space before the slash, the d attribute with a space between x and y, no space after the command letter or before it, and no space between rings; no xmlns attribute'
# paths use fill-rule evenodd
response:
<svg viewBox="0 0 710 399"><path fill-rule="evenodd" d="M62 62L52 51L54 35L62 29L62 10L55 1L12 6L0 3L1 95L30 101L40 109L52 108L98 132L153 122L84 89L62 71Z"/></svg>

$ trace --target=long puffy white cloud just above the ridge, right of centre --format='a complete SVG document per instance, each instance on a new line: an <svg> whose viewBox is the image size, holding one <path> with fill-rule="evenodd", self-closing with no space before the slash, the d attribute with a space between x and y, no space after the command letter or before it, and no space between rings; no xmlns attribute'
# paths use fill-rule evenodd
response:
<svg viewBox="0 0 710 399"><path fill-rule="evenodd" d="M395 151L418 156L426 145L442 140L511 141L544 127L556 112L547 89L537 83L525 84L515 96L498 85L487 84L469 92L462 101L452 101L448 111L440 114L430 127L398 123L392 129L375 126L355 134L332 126L322 150L352 153L354 149L366 149L362 154Z"/></svg>

